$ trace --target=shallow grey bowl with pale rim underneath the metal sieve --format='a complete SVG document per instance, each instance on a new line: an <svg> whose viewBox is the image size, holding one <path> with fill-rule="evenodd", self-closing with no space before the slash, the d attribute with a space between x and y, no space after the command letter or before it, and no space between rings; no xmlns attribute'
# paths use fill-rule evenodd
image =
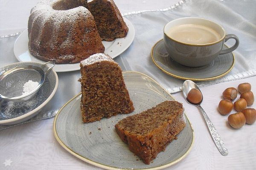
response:
<svg viewBox="0 0 256 170"><path fill-rule="evenodd" d="M41 67L43 63L37 62L17 62L0 68L0 74L22 65L36 65ZM13 125L24 122L33 116L52 99L58 88L58 75L51 69L46 75L46 79L35 96L25 102L13 102L0 100L0 125Z"/></svg>

